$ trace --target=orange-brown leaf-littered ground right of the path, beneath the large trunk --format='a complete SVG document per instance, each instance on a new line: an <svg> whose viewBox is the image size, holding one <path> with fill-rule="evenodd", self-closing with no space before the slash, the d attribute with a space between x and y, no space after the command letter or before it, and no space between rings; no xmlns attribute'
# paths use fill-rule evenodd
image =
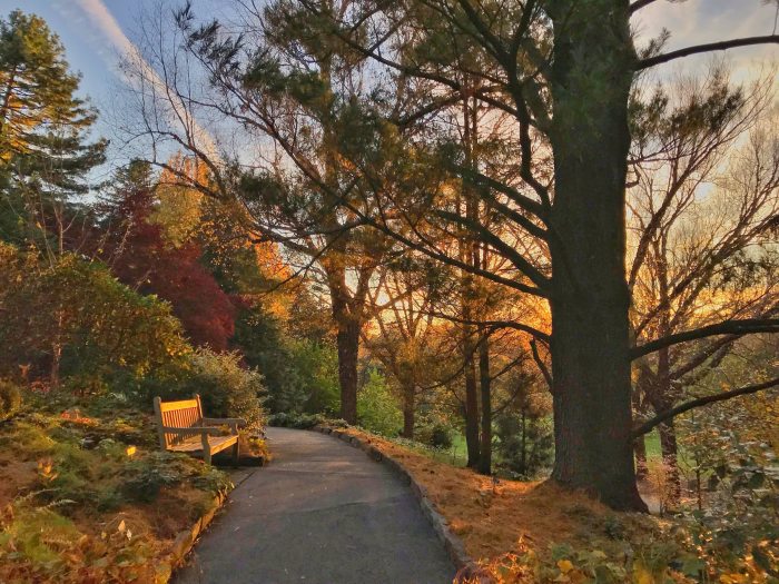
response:
<svg viewBox="0 0 779 584"><path fill-rule="evenodd" d="M342 428L392 456L425 487L481 571L465 582L769 583L779 533L767 513L738 536L701 515L620 513L542 481L485 477L358 428ZM773 485L776 494L777 485ZM737 514L722 514L738 523ZM746 535L746 537L745 537ZM486 578L486 580L485 580Z"/></svg>

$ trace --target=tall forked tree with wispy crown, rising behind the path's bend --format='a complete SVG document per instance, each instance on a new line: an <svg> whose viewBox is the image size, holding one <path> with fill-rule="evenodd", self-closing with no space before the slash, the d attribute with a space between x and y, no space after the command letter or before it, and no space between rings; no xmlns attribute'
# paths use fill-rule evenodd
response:
<svg viewBox="0 0 779 584"><path fill-rule="evenodd" d="M333 17L351 6L346 0L319 8ZM414 83L366 75L364 60L347 47L321 42L327 19L310 19L302 4L243 8L246 22L256 26L241 34L228 33L216 21L197 27L189 7L178 13L177 30L190 59L208 76L210 92L198 103L240 128L253 160L246 164L238 156L235 165L223 165L203 148L188 145L189 151L209 164L217 187L213 195L241 201L258 238L283 245L300 271L326 287L336 327L341 414L355 422L367 290L392 242L361 226L342 202L373 215L369 194L394 188L400 159L393 152L402 129L384 120L403 117ZM161 69L172 88L172 109L186 110L188 88L176 82L169 67ZM149 110L144 113L159 120ZM166 122L152 125L150 133L187 143L185 130Z"/></svg>

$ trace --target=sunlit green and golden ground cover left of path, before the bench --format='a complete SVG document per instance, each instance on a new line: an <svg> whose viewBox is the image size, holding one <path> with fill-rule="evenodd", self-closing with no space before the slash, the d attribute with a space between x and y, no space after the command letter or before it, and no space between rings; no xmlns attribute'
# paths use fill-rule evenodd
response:
<svg viewBox="0 0 779 584"><path fill-rule="evenodd" d="M24 397L0 426L0 580L164 581L176 535L229 477L159 452L151 416L125 399Z"/></svg>

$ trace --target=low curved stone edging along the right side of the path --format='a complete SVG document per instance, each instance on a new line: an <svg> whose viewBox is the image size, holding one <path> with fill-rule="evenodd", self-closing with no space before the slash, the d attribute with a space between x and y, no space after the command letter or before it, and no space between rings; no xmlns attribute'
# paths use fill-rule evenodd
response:
<svg viewBox="0 0 779 584"><path fill-rule="evenodd" d="M448 526L448 523L446 522L446 518L435 509L433 502L431 502L430 497L427 496L427 489L418 482L416 482L412 474L408 471L406 471L401 463L398 463L392 456L382 453L369 442L358 436L352 436L351 434L345 433L341 428L333 428L329 426L314 426L310 429L321 434L329 434L331 436L335 436L336 438L344 441L345 443L354 446L355 448L359 448L361 451L365 452L365 454L367 454L371 458L378 463L383 463L396 475L398 475L404 483L411 486L412 493L414 493L414 496L420 503L420 507L422 507L422 513L424 513L425 517L427 517L427 519L433 525L435 534L438 536L438 540L441 540L441 542L444 544L446 553L452 558L452 562L457 568L457 575L461 577L467 577L472 574L477 573L479 567L476 563L467 554L467 552L465 552L465 546L463 545L463 542L452 532L452 529Z"/></svg>

